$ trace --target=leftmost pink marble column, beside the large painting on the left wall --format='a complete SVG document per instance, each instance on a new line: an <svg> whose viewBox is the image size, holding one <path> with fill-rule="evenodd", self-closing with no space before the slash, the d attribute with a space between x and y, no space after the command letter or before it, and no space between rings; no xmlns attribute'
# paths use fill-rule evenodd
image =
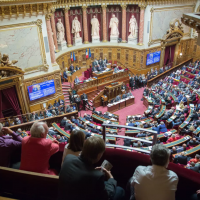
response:
<svg viewBox="0 0 200 200"><path fill-rule="evenodd" d="M48 35L48 40L49 40L49 50L50 50L50 56L51 56L51 63L56 64L53 36L52 36L52 30L51 30L51 22L50 22L51 15L52 14L46 14L46 26L47 26L47 35Z"/></svg>

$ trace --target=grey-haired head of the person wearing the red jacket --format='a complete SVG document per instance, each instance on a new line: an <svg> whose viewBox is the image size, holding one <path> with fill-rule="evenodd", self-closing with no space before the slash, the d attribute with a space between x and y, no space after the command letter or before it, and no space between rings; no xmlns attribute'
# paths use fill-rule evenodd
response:
<svg viewBox="0 0 200 200"><path fill-rule="evenodd" d="M46 138L49 128L44 122L35 122L31 127L31 137Z"/></svg>

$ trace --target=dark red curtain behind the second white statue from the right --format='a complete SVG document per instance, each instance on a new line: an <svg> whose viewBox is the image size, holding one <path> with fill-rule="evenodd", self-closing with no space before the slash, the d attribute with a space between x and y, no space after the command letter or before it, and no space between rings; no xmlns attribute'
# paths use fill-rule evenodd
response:
<svg viewBox="0 0 200 200"><path fill-rule="evenodd" d="M119 20L118 24L118 30L119 30L119 38L122 38L122 8L120 5L112 5L112 6L107 6L106 9L106 26L107 26L107 39L110 41L110 19L112 18L112 15L115 15L117 19Z"/></svg>

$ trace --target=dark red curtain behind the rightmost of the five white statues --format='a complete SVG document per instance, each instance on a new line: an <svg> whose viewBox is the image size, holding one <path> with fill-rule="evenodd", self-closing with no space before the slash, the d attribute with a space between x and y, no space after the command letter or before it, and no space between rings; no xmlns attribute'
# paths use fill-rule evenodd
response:
<svg viewBox="0 0 200 200"><path fill-rule="evenodd" d="M140 25L140 9L138 5L128 5L126 8L126 41L128 41L128 36L130 34L129 32L129 21L132 17L132 15L135 17L137 21L137 26L138 26L138 41L139 42L139 25Z"/></svg>

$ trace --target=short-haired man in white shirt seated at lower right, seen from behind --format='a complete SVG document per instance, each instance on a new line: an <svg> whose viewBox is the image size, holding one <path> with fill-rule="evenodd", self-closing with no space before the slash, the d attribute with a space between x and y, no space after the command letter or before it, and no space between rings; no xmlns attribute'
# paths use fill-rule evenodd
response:
<svg viewBox="0 0 200 200"><path fill-rule="evenodd" d="M138 166L131 178L131 198L140 200L175 200L178 176L167 170L170 151L161 144L153 146L152 166Z"/></svg>

